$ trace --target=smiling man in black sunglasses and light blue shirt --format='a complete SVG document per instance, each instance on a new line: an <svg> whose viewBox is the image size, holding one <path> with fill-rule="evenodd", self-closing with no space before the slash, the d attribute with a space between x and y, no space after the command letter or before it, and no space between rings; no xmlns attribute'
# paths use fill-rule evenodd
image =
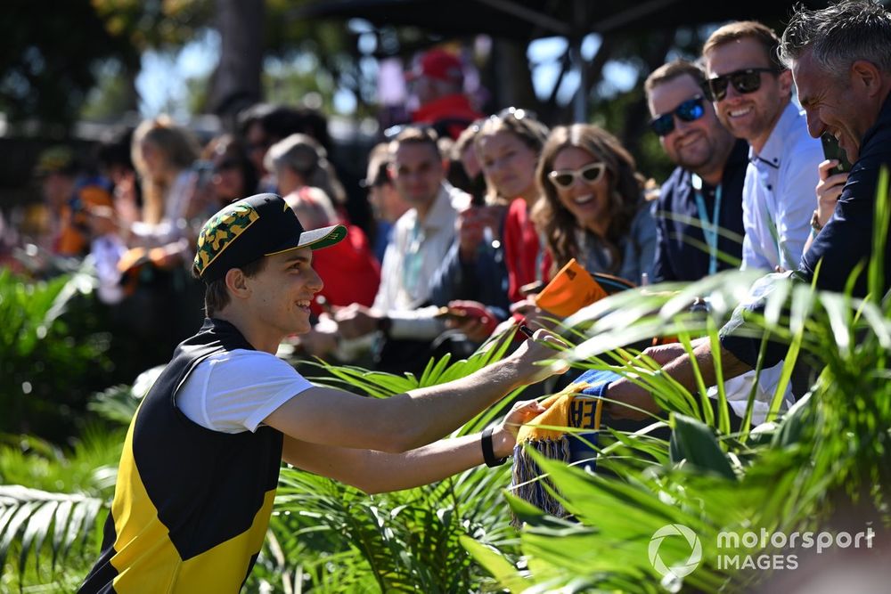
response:
<svg viewBox="0 0 891 594"><path fill-rule="evenodd" d="M777 62L771 28L744 20L724 25L702 48L707 90L718 119L750 145L742 192L742 267L794 269L816 206L819 141L791 102L792 75Z"/></svg>

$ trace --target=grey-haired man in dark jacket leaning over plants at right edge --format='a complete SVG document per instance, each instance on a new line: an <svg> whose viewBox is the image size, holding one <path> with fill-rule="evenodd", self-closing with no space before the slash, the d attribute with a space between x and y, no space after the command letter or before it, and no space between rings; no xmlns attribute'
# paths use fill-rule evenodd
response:
<svg viewBox="0 0 891 594"><path fill-rule="evenodd" d="M817 289L842 291L857 264L868 264L879 170L891 167L891 14L871 0L854 0L822 10L799 9L789 21L781 42L781 59L792 71L798 98L814 137L835 136L854 163L829 222L817 231L796 276ZM885 248L884 290L891 281L891 241ZM817 264L820 273L815 275ZM854 282L854 296L867 292L865 272ZM738 308L721 330L723 377L754 369L760 338L752 338L747 313L758 312L763 301ZM748 330L748 336L746 330ZM768 342L764 367L779 362L786 348ZM694 349L706 385L715 383L715 367L708 341ZM696 386L691 357L683 354L667 362L664 372L684 386ZM609 398L644 410L656 411L652 397L640 387L619 380L609 387ZM617 416L640 413L616 407Z"/></svg>

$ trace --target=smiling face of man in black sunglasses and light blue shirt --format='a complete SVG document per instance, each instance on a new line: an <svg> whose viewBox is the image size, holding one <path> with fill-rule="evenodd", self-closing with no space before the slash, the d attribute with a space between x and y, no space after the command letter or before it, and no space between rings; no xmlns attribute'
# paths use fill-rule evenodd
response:
<svg viewBox="0 0 891 594"><path fill-rule="evenodd" d="M771 69L773 64L754 37L716 45L705 54L706 77L714 78L745 69ZM771 135L773 126L789 103L792 77L789 71L779 74L761 72L761 86L754 93L740 93L731 84L727 95L715 102L718 119L737 138L743 138L760 151Z"/></svg>

